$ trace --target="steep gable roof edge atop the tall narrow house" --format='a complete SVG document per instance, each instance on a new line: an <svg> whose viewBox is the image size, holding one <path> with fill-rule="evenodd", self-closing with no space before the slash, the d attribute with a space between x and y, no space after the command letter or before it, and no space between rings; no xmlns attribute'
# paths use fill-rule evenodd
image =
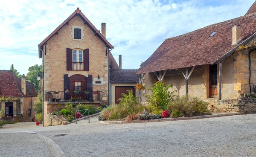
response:
<svg viewBox="0 0 256 157"><path fill-rule="evenodd" d="M58 32L58 30L60 30L63 26L65 26L65 24L67 24L67 22L69 22L74 16L79 15L84 22L93 30L93 32L97 32L98 37L106 44L108 45L108 47L110 48L114 48L109 42L108 40L99 32L98 29L96 29L95 26L93 26L93 24L90 22L90 20L87 19L87 17L85 17L85 15L81 12L81 10L79 10L79 8L77 8L75 10L75 12L73 12L73 14L71 14L69 17L67 17L66 20L64 20L63 23L61 23L60 26L58 26L50 35L48 35L47 38L44 39L44 41L42 41L39 45L38 45L38 54L39 54L39 58L42 58L41 56L41 51L39 50L40 48L42 49L42 46L50 39L52 38L53 35L56 34L56 32Z"/></svg>

